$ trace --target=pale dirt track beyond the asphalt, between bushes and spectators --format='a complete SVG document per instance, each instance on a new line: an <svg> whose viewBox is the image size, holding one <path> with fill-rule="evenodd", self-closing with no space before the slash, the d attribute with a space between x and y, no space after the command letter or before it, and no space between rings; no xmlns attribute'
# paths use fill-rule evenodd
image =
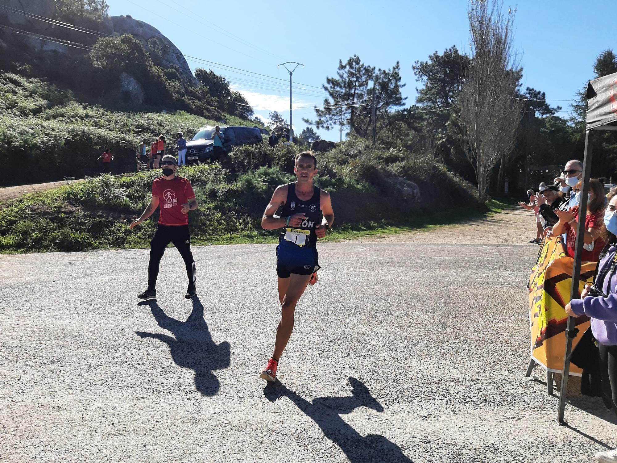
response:
<svg viewBox="0 0 617 463"><path fill-rule="evenodd" d="M536 218L524 209L429 228L362 238L366 243L526 244L536 238ZM529 244L532 246L532 244Z"/></svg>

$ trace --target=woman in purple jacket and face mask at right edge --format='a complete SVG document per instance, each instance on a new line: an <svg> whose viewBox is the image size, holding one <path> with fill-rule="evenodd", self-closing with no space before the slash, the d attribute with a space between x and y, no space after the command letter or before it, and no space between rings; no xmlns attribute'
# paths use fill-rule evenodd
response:
<svg viewBox="0 0 617 463"><path fill-rule="evenodd" d="M581 299L570 301L565 309L572 317L587 315L591 318L591 332L600 349L602 389L607 398L612 398L613 411L617 412L617 195L609 196L600 232L608 251L600 256L595 288L585 285ZM599 452L595 459L615 463L617 449Z"/></svg>

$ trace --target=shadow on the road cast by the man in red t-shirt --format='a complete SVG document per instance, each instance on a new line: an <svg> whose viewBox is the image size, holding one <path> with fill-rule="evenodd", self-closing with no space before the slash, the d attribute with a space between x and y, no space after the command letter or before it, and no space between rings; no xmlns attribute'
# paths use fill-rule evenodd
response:
<svg viewBox="0 0 617 463"><path fill-rule="evenodd" d="M204 320L204 306L199 298L193 298L193 311L186 322L169 317L154 299L139 302L138 305L149 306L159 327L172 332L175 338L160 333L135 332L136 335L166 343L176 365L194 370L197 391L204 396L217 394L220 383L212 372L229 367L230 343L225 341L217 345L212 341Z"/></svg>

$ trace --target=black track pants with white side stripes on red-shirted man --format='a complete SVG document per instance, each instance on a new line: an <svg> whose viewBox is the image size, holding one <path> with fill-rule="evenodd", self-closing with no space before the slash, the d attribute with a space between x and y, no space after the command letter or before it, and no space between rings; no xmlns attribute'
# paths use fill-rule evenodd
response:
<svg viewBox="0 0 617 463"><path fill-rule="evenodd" d="M189 234L188 225L180 225L178 227L169 227L168 225L160 225L156 233L150 241L150 262L148 262L148 289L156 289L156 279L159 276L160 259L165 253L167 244L173 243L178 249L180 255L184 259L186 265L186 276L189 279L189 285L195 284L195 261L193 252L191 252L191 235Z"/></svg>

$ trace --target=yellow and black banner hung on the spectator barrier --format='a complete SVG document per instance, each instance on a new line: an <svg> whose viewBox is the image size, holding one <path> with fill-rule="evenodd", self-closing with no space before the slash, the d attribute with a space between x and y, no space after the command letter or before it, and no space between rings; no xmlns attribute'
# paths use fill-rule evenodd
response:
<svg viewBox="0 0 617 463"><path fill-rule="evenodd" d="M582 262L579 294L586 283L594 278L597 262ZM536 265L529 275L529 325L531 328L531 357L545 369L561 373L566 351L566 322L564 307L570 301L574 259L566 254L561 236L543 240ZM578 317L579 336L574 338L576 347L581 334L589 328L589 317ZM570 366L570 374L580 376L582 370Z"/></svg>

